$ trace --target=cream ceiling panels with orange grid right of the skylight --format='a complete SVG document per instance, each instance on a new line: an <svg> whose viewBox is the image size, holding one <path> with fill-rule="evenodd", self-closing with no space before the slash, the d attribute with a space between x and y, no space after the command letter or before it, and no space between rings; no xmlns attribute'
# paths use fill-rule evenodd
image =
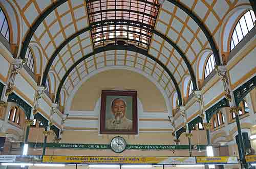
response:
<svg viewBox="0 0 256 169"><path fill-rule="evenodd" d="M204 21L212 35L215 35L220 27L221 18L219 14L222 12L221 16L224 16L223 11L225 14L231 6L231 4L227 4L226 2L217 3L217 1L210 1L211 4L201 0L181 2L190 8L190 10L197 11L196 14ZM206 48L210 49L206 36L196 22L180 8L165 1L159 11L156 30L163 33L169 39L172 39L180 47L190 64L193 65L194 72L196 72L196 61L200 52ZM157 56L159 60L163 61L172 70L171 72L178 79L177 82L181 87L182 79L188 73L188 70L185 69L184 60L172 47L166 47L162 38L153 37L149 53Z"/></svg>

